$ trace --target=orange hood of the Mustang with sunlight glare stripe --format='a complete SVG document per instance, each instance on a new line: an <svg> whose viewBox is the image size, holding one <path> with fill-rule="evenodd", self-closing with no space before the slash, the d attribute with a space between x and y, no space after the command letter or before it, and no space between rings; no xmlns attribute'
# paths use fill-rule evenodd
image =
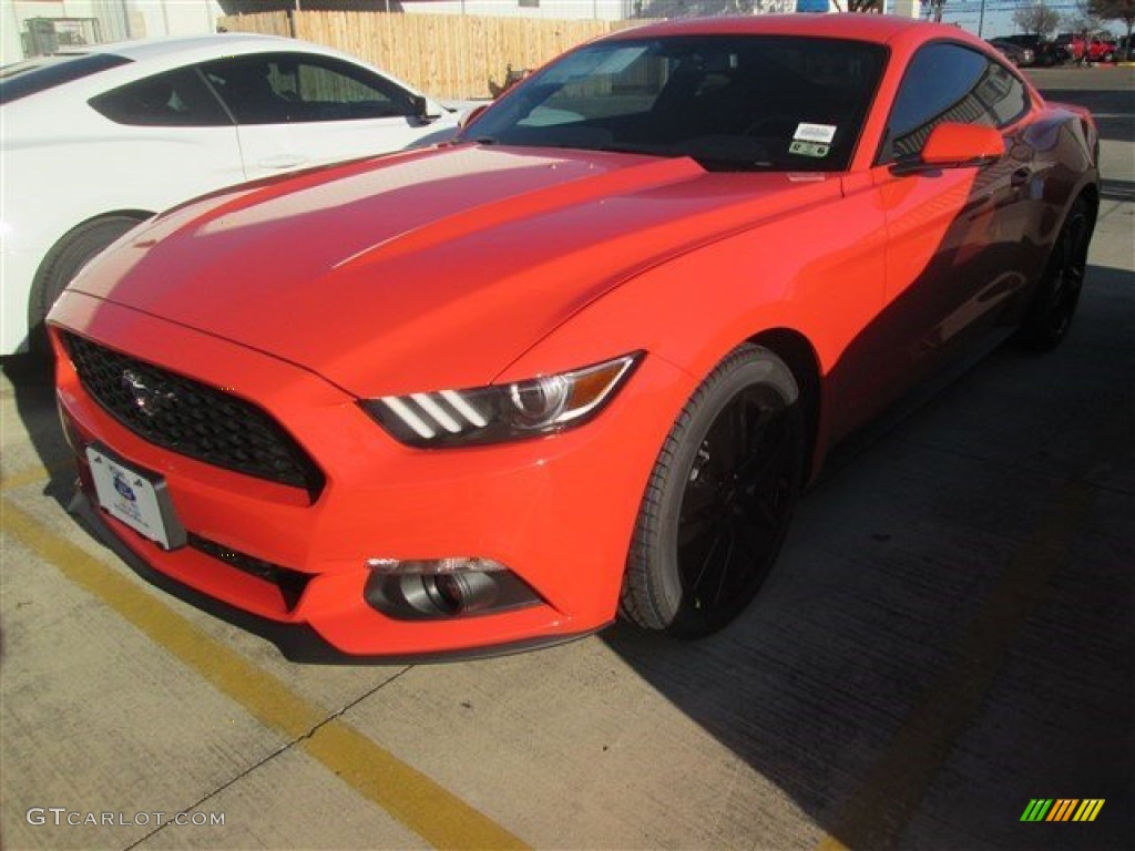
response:
<svg viewBox="0 0 1135 851"><path fill-rule="evenodd" d="M637 271L839 192L816 174L460 145L199 199L132 234L72 289L358 396L480 386ZM612 339L603 354L631 344Z"/></svg>

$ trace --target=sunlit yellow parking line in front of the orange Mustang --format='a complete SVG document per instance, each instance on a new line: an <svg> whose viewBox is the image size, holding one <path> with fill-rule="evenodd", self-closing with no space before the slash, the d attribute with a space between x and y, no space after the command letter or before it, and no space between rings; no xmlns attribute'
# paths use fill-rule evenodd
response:
<svg viewBox="0 0 1135 851"><path fill-rule="evenodd" d="M277 677L194 626L154 596L56 537L35 517L0 498L10 534L67 579L98 597L179 658L262 724L299 744L360 794L435 848L523 849L516 836ZM325 723L326 722L326 723ZM314 731L314 732L312 732Z"/></svg>

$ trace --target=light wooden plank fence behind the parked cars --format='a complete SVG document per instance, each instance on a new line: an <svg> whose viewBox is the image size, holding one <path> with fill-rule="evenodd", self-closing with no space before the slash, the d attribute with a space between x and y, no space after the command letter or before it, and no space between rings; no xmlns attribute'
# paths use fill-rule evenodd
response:
<svg viewBox="0 0 1135 851"><path fill-rule="evenodd" d="M489 82L504 83L510 66L536 68L568 48L642 23L371 11L260 12L220 19L233 32L294 34L337 48L436 98L488 98Z"/></svg>

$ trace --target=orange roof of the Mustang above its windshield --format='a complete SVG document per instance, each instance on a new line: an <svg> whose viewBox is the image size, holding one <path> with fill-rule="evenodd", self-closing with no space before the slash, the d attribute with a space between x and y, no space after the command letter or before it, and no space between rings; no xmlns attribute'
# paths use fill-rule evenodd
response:
<svg viewBox="0 0 1135 851"><path fill-rule="evenodd" d="M885 44L911 32L928 36L962 37L962 30L948 24L931 24L894 15L754 15L717 18L686 18L623 30L614 39L661 35L812 35L855 39ZM968 39L965 39L968 41Z"/></svg>

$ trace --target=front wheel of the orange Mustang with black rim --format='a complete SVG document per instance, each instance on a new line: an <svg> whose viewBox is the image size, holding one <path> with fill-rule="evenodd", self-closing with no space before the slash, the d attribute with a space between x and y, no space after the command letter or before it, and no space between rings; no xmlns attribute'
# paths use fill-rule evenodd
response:
<svg viewBox="0 0 1135 851"><path fill-rule="evenodd" d="M766 348L734 349L695 391L658 454L628 558L623 616L682 638L737 617L784 541L804 453L791 370Z"/></svg>

